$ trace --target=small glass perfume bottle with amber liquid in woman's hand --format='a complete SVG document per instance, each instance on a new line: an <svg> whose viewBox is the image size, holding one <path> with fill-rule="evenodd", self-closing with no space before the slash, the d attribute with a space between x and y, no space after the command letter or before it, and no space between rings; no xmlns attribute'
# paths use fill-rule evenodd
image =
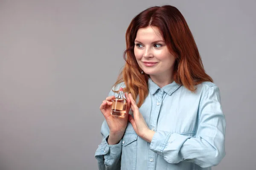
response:
<svg viewBox="0 0 256 170"><path fill-rule="evenodd" d="M127 101L124 98L124 93L121 90L119 90L118 97L112 100L112 109L111 109L111 115L113 116L119 116L119 117L124 117L126 113L126 106L127 106Z"/></svg>

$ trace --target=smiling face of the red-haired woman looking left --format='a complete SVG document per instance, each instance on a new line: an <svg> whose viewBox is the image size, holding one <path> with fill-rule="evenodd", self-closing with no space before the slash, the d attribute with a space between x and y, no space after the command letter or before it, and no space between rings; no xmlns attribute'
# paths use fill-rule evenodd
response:
<svg viewBox="0 0 256 170"><path fill-rule="evenodd" d="M175 57L169 52L157 27L137 31L134 54L140 68L150 76L172 76Z"/></svg>

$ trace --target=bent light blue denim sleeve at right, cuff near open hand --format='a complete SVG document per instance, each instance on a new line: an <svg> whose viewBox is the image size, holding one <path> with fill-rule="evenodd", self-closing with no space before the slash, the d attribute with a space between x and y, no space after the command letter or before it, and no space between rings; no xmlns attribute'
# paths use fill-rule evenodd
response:
<svg viewBox="0 0 256 170"><path fill-rule="evenodd" d="M189 161L200 167L216 166L225 153L226 120L219 88L210 87L199 104L199 126L194 137L157 131L149 148L169 163Z"/></svg>

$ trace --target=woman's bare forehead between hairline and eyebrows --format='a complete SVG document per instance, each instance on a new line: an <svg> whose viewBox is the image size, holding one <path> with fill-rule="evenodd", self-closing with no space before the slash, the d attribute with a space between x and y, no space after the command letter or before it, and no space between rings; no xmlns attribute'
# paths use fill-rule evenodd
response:
<svg viewBox="0 0 256 170"><path fill-rule="evenodd" d="M162 35L157 27L148 26L146 28L140 28L137 31L137 39L159 39L163 40Z"/></svg>

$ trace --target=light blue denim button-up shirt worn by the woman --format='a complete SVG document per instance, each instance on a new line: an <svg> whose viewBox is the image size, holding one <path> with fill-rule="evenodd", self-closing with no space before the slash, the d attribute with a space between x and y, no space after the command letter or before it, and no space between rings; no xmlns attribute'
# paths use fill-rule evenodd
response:
<svg viewBox="0 0 256 170"><path fill-rule="evenodd" d="M109 128L104 121L103 140L95 153L99 170L211 170L219 164L226 154L220 91L212 82L196 88L193 93L176 82L160 88L149 78L148 96L139 110L155 131L151 143L128 122L122 140L108 145ZM110 91L112 95L117 96Z"/></svg>

